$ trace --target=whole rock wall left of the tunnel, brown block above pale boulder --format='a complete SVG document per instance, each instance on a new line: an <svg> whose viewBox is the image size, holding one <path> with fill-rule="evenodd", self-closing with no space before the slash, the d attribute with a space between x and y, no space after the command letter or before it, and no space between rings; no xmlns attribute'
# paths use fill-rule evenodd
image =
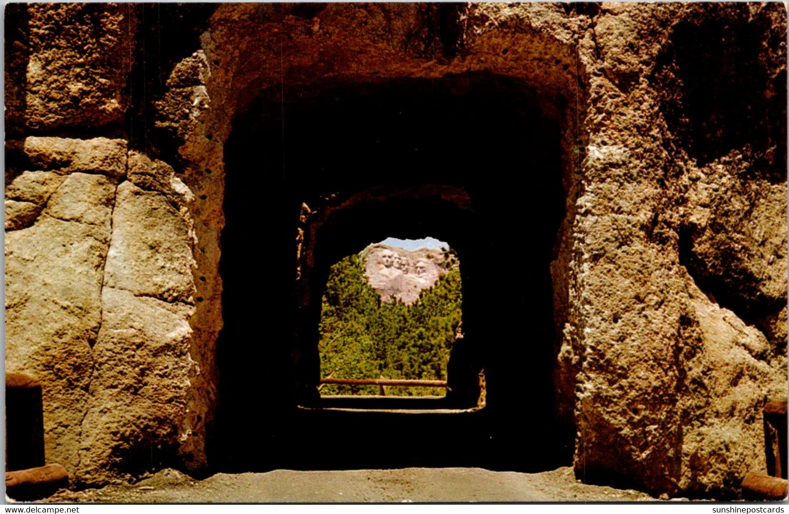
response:
<svg viewBox="0 0 789 514"><path fill-rule="evenodd" d="M10 10L27 63L6 96L23 136L6 144L6 370L43 382L48 462L130 479L190 439L194 197L128 138L83 139L128 136L136 7Z"/></svg>

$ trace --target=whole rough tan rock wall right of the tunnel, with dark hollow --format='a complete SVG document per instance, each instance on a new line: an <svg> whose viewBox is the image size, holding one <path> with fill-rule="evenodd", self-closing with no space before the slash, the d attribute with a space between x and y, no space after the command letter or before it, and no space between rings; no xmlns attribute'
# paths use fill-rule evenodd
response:
<svg viewBox="0 0 789 514"><path fill-rule="evenodd" d="M677 81L660 69L682 23L736 20L742 9L751 13L734 36L755 34L762 50L748 59L785 80L785 47L775 35L785 35L786 14L777 4L604 3L580 40L581 64L590 71L589 143L563 361L578 371L575 467L586 479L726 495L746 470L765 465L761 406L787 387L786 341L772 337L786 330L786 178L741 173L763 160L750 142L722 148L711 162L691 155L666 116L667 94L687 104L686 91L676 91ZM705 80L708 94L727 86ZM749 94L770 95L771 82L759 85ZM730 108L723 101L702 115L714 119ZM783 119L785 104L772 116ZM709 148L722 143L712 131L705 137ZM783 145L772 144L773 151ZM753 305L759 313L751 316L776 320L767 331L772 348L747 316L701 293L703 277L716 277L727 295L746 289L743 303L759 295L773 300L764 309Z"/></svg>

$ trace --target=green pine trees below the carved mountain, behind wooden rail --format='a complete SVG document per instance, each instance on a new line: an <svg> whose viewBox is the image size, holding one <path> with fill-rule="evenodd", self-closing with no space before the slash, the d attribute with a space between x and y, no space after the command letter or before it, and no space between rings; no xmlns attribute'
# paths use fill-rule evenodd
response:
<svg viewBox="0 0 789 514"><path fill-rule="evenodd" d="M350 255L331 267L320 320L322 378L446 380L461 322L460 270L444 251L446 273L411 304L382 302L365 278L365 261ZM322 395L380 394L377 385L320 385ZM443 396L445 389L387 386L387 396Z"/></svg>

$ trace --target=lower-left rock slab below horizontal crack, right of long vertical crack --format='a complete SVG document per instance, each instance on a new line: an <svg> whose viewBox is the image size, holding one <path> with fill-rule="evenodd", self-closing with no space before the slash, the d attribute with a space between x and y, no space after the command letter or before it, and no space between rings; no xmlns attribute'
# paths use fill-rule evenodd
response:
<svg viewBox="0 0 789 514"><path fill-rule="evenodd" d="M186 410L194 308L105 285L77 479L133 479L175 460Z"/></svg>

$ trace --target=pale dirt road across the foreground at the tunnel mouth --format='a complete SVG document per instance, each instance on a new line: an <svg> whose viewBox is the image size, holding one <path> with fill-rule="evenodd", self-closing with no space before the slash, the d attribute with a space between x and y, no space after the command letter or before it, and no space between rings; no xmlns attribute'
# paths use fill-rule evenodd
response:
<svg viewBox="0 0 789 514"><path fill-rule="evenodd" d="M527 474L477 467L217 474L164 470L135 485L61 491L47 501L88 503L654 501L635 490L587 486L570 467Z"/></svg>

